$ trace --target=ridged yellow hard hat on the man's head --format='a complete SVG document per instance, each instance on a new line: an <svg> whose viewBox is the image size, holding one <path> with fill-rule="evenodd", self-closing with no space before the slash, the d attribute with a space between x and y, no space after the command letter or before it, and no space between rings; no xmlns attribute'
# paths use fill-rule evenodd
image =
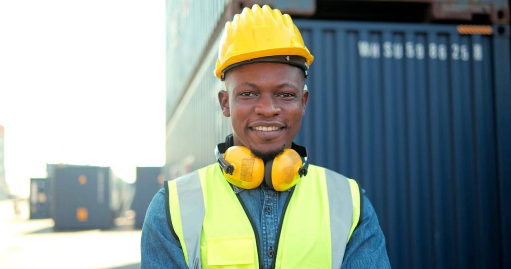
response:
<svg viewBox="0 0 511 269"><path fill-rule="evenodd" d="M223 80L225 71L241 64L281 62L301 67L307 75L313 60L288 14L268 5L253 5L225 23L214 73Z"/></svg>

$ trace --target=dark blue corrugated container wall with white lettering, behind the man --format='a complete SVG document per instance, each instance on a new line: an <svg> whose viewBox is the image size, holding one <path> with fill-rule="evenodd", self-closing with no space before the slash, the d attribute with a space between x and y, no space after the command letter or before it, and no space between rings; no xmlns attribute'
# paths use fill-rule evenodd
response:
<svg viewBox="0 0 511 269"><path fill-rule="evenodd" d="M366 189L392 266L509 268L509 28L295 22L315 56L297 142Z"/></svg>

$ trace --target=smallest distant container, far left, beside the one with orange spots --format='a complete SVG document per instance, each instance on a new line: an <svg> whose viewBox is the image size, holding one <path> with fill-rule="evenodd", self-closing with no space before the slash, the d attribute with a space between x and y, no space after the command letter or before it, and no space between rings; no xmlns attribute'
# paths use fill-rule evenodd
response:
<svg viewBox="0 0 511 269"><path fill-rule="evenodd" d="M51 218L52 182L48 178L30 179L30 219Z"/></svg>

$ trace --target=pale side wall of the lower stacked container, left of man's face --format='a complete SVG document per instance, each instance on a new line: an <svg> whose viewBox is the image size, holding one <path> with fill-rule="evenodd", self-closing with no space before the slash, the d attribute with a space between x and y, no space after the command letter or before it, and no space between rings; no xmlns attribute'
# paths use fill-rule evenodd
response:
<svg viewBox="0 0 511 269"><path fill-rule="evenodd" d="M213 75L217 56L215 45L167 124L166 178L174 179L215 162L215 145L231 133L230 121L218 103L217 94L223 85Z"/></svg>

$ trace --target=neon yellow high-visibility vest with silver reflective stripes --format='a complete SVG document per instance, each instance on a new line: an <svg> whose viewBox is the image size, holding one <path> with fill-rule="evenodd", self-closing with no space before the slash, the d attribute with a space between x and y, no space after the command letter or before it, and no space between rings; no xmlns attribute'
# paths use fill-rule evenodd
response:
<svg viewBox="0 0 511 269"><path fill-rule="evenodd" d="M260 268L253 220L218 164L164 185L169 226L190 268ZM361 202L355 180L310 165L284 206L271 268L340 268Z"/></svg>

